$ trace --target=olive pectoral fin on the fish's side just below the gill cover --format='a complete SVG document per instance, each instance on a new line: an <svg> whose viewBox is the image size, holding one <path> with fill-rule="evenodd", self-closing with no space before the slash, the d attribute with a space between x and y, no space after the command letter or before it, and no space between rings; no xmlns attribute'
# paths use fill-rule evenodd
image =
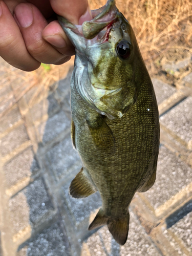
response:
<svg viewBox="0 0 192 256"><path fill-rule="evenodd" d="M101 115L99 115L95 121L87 120L87 124L89 126L93 141L97 147L101 148L102 150L106 150L108 148L114 150L115 138L110 127L108 124L106 124Z"/></svg>

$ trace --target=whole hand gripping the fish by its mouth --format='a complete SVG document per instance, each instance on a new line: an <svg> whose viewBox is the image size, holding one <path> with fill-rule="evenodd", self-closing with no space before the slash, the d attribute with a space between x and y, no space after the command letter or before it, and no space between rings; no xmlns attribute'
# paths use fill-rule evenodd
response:
<svg viewBox="0 0 192 256"><path fill-rule="evenodd" d="M0 56L24 71L68 61L75 49L55 13L79 25L92 18L87 0L0 0Z"/></svg>

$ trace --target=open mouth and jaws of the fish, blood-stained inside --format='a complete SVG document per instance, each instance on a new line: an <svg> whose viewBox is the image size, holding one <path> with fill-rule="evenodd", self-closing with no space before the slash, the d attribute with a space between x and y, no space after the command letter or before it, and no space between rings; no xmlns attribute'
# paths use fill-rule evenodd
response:
<svg viewBox="0 0 192 256"><path fill-rule="evenodd" d="M78 39L81 38L82 44L85 45L86 39L92 40L92 43L108 41L112 25L118 18L118 9L115 6L114 0L108 0L103 7L92 10L91 14L93 19L83 22L82 25L74 25L66 18L58 16L59 24L77 49L77 36ZM80 44L81 47L82 44Z"/></svg>

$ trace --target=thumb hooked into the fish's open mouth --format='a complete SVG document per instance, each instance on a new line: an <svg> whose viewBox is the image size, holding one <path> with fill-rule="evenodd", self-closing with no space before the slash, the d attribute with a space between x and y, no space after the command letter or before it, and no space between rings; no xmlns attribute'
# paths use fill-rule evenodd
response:
<svg viewBox="0 0 192 256"><path fill-rule="evenodd" d="M87 0L50 0L50 3L54 12L73 24L81 25L85 20L92 19Z"/></svg>

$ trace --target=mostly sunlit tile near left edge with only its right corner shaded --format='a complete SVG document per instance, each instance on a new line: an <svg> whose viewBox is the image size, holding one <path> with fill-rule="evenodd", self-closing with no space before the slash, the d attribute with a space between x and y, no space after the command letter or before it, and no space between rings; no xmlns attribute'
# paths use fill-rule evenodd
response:
<svg viewBox="0 0 192 256"><path fill-rule="evenodd" d="M4 165L3 169L8 187L35 175L39 170L39 166L34 158L32 147L12 158Z"/></svg>

